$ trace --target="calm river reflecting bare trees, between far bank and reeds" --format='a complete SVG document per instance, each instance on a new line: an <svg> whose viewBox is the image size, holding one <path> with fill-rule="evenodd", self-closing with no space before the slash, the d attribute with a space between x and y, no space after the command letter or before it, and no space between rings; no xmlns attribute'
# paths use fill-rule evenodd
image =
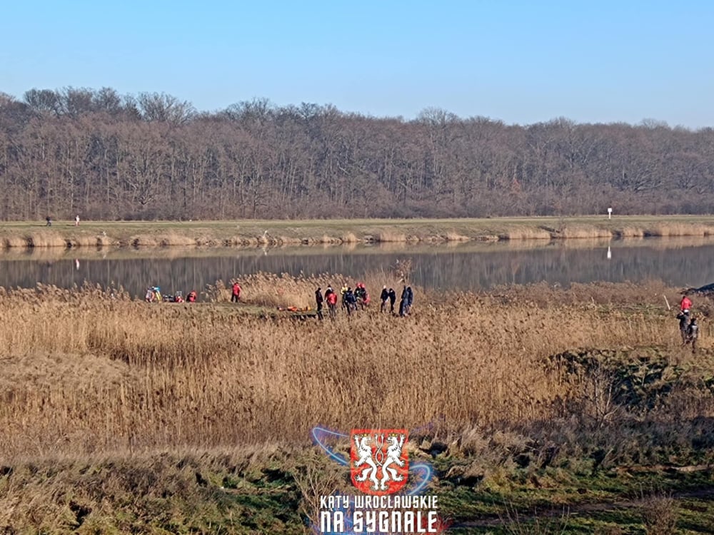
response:
<svg viewBox="0 0 714 535"><path fill-rule="evenodd" d="M358 278L366 272L388 272L397 260L407 258L413 265L413 284L449 290L543 280L560 285L648 279L673 286L714 282L714 239L648 238L356 248L7 251L0 254L0 285L34 287L43 282L71 287L89 281L122 285L132 295L143 296L147 285L186 293L216 280L261 271ZM327 282L334 285L338 280Z"/></svg>

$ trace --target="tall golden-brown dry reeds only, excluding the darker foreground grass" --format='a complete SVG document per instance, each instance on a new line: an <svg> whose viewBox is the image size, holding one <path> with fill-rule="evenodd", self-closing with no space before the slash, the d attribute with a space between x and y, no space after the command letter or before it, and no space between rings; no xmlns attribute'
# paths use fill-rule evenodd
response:
<svg viewBox="0 0 714 535"><path fill-rule="evenodd" d="M383 278L373 275L373 287ZM247 305L288 305L326 280L338 287L344 277L242 282ZM304 443L318 424L463 429L549 419L573 395L550 355L678 351L671 317L630 307L661 308L666 291L536 286L444 301L417 289L408 318L371 310L301 322L221 303L149 305L91 287L1 290L0 457Z"/></svg>

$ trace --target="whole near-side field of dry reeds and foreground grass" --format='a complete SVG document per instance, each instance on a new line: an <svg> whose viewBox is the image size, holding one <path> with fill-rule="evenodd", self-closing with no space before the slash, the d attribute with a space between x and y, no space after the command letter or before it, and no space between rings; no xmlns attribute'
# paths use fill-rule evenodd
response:
<svg viewBox="0 0 714 535"><path fill-rule="evenodd" d="M0 291L0 531L307 533L351 487L322 425L411 429L454 533L711 532L708 299L693 354L655 282L417 288L411 317L336 322L274 313L323 280L241 282Z"/></svg>

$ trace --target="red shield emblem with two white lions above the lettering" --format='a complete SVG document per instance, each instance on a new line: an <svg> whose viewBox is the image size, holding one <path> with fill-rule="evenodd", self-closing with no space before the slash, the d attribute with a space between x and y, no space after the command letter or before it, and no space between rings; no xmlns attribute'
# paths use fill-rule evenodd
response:
<svg viewBox="0 0 714 535"><path fill-rule="evenodd" d="M404 485L409 459L406 429L352 429L352 483L365 494L393 494Z"/></svg>

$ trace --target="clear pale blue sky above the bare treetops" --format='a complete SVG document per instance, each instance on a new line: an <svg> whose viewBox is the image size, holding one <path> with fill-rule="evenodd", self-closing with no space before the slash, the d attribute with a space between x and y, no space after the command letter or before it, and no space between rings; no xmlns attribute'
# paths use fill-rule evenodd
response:
<svg viewBox="0 0 714 535"><path fill-rule="evenodd" d="M0 91L714 126L714 1L8 0Z"/></svg>

